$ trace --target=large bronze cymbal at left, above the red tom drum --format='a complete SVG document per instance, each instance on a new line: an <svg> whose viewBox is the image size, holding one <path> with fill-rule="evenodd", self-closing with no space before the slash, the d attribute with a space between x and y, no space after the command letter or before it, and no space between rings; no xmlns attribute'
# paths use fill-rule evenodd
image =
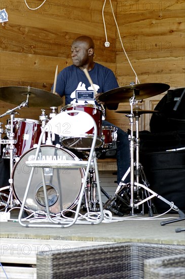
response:
<svg viewBox="0 0 185 279"><path fill-rule="evenodd" d="M62 103L62 98L58 94L49 91L24 87L24 86L5 86L0 87L0 99L13 104L21 104L26 101L29 94L28 107L58 107Z"/></svg>

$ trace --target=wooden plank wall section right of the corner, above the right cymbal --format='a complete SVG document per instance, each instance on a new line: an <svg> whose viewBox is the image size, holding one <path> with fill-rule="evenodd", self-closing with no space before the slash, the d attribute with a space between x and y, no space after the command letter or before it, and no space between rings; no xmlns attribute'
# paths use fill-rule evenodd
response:
<svg viewBox="0 0 185 279"><path fill-rule="evenodd" d="M114 10L121 41L140 83L166 83L170 88L185 87L184 61L184 0L118 0ZM119 34L115 41L116 76L120 86L135 82L135 74L123 51ZM163 95L159 95L158 101ZM142 109L145 101L143 100ZM118 110L128 107L129 100ZM152 105L150 108L154 109ZM121 115L109 111L113 123L127 129L128 122ZM115 116L116 115L116 116ZM143 115L143 118L146 115ZM149 120L147 120L149 121ZM142 127L149 128L149 125Z"/></svg>

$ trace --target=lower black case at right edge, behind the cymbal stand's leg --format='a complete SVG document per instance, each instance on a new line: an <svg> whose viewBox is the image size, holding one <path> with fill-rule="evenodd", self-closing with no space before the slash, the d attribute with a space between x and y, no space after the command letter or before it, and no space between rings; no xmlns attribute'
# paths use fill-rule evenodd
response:
<svg viewBox="0 0 185 279"><path fill-rule="evenodd" d="M140 153L140 163L150 188L185 212L185 150ZM153 201L158 213L170 208L157 197Z"/></svg>

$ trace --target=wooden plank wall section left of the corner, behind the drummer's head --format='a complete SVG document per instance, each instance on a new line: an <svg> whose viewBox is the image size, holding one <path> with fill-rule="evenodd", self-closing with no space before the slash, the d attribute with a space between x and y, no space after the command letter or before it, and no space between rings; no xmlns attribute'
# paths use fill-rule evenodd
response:
<svg viewBox="0 0 185 279"><path fill-rule="evenodd" d="M114 3L115 1L113 1ZM31 8L42 1L29 1ZM91 36L96 43L95 60L116 72L116 27L110 9L106 9L106 27L110 48L104 47L102 21L103 0L49 0L38 10L29 10L24 0L3 1L9 21L1 24L1 84L0 86L30 86L50 91L58 71L71 63L71 42L81 34ZM113 49L114 46L114 49ZM51 112L48 108L47 114ZM1 100L0 114L15 108ZM42 108L42 104L41 104ZM19 118L39 120L41 108L23 108ZM6 122L6 117L1 119Z"/></svg>

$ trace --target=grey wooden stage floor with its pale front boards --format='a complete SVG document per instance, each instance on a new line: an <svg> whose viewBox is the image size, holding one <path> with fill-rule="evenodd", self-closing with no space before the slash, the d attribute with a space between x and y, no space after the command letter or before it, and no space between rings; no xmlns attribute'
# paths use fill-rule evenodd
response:
<svg viewBox="0 0 185 279"><path fill-rule="evenodd" d="M161 226L162 221L178 220L178 214L123 217L112 216L112 220L98 225L75 224L69 228L26 228L19 224L18 210L11 211L10 221L1 222L0 277L9 279L36 279L36 254L39 251L71 249L115 242L157 243L170 248L185 245L185 221L179 220ZM159 216L159 217L158 217ZM184 246L185 251L185 246ZM69 263L70 265L70 263Z"/></svg>

